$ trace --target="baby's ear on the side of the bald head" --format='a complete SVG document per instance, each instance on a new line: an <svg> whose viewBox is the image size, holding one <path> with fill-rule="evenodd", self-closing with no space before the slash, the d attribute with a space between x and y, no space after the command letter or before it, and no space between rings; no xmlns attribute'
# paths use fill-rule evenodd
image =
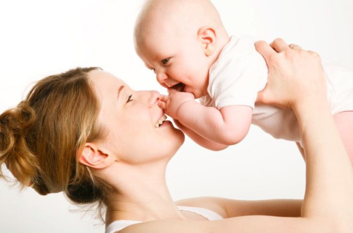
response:
<svg viewBox="0 0 353 233"><path fill-rule="evenodd" d="M205 55L213 55L217 48L217 34L215 28L203 26L197 31L197 36L202 42L202 49Z"/></svg>

